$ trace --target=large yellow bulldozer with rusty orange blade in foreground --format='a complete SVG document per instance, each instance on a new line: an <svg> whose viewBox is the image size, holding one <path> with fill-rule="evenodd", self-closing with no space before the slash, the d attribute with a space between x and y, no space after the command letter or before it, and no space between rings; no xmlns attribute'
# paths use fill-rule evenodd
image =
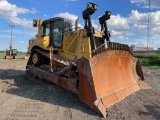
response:
<svg viewBox="0 0 160 120"><path fill-rule="evenodd" d="M94 30L91 15L97 8L87 3L82 29L77 21L74 29L71 20L61 17L33 20L38 34L29 42L26 74L77 94L80 101L106 117L107 108L147 84L141 62L129 46L111 42L110 11L99 17L101 30Z"/></svg>

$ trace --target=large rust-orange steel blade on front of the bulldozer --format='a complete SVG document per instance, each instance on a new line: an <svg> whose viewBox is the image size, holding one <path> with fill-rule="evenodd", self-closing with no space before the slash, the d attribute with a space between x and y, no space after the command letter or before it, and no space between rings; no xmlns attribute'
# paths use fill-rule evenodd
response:
<svg viewBox="0 0 160 120"><path fill-rule="evenodd" d="M82 58L78 67L80 100L104 117L106 108L147 86L140 61L128 51L108 50Z"/></svg>

